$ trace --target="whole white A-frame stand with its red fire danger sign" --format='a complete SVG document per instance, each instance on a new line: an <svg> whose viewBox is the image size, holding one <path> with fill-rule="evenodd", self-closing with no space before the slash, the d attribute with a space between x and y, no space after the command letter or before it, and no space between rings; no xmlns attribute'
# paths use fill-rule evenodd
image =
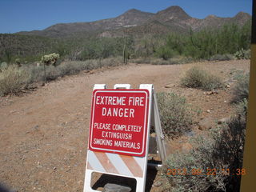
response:
<svg viewBox="0 0 256 192"><path fill-rule="evenodd" d="M90 186L93 172L134 178L136 191L144 192L150 126L155 128L163 162L166 149L153 85L141 84L139 89L130 89L129 84L114 89L94 85L84 192L98 191Z"/></svg>

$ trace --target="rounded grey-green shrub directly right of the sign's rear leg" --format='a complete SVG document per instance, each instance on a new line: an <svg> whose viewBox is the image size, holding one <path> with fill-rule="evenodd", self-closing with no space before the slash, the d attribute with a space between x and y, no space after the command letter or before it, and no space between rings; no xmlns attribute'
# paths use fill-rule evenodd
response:
<svg viewBox="0 0 256 192"><path fill-rule="evenodd" d="M190 130L194 111L186 104L186 98L173 93L158 93L158 107L162 130L170 138Z"/></svg>

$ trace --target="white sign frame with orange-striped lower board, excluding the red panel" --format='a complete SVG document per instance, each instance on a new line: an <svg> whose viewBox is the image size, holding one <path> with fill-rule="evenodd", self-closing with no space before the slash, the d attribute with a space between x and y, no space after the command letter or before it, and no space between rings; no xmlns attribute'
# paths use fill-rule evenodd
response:
<svg viewBox="0 0 256 192"><path fill-rule="evenodd" d="M104 90L106 84L95 84L94 90ZM130 84L116 84L114 89L130 89ZM154 88L152 84L141 84L138 90L149 91L149 109L147 119L147 133L146 133L146 153L144 157L128 156L123 154L113 154L107 152L92 151L87 148L86 158L86 177L84 181L84 192L93 192L90 186L91 176L93 172L102 174L112 174L116 176L134 178L136 179L136 191L144 192L146 186L146 170L147 159L150 142L150 124L152 123L156 132L156 142L158 147L158 153L162 159L162 162L166 160L166 149L164 144L164 138L162 133L162 127L160 117L158 113L158 104L156 95L154 94ZM152 116L151 116L152 115ZM88 146L89 146L88 141ZM159 165L155 165L159 166Z"/></svg>

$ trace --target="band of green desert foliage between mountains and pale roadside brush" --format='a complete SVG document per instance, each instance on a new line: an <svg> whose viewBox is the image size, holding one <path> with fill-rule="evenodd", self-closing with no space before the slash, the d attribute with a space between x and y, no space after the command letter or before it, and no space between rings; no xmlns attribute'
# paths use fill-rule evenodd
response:
<svg viewBox="0 0 256 192"><path fill-rule="evenodd" d="M74 34L65 38L39 37L25 34L0 34L0 62L35 62L42 55L58 53L60 58L85 61L123 55L128 58L156 57L167 60L175 56L194 59L217 59L219 55L235 54L250 49L251 20L244 26L234 24L190 33L129 35L101 37L96 34ZM166 31L167 33L167 31ZM229 57L227 57L229 58ZM247 57L246 57L247 58ZM220 59L226 59L220 58ZM218 59L219 60L219 59Z"/></svg>

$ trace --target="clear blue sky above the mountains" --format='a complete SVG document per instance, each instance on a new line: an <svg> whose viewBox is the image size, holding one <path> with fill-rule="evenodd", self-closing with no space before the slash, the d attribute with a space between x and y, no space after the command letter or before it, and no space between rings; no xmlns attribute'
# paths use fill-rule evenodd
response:
<svg viewBox="0 0 256 192"><path fill-rule="evenodd" d="M157 13L181 6L191 17L251 14L252 0L0 0L0 33L43 30L56 23L114 18L130 9Z"/></svg>

